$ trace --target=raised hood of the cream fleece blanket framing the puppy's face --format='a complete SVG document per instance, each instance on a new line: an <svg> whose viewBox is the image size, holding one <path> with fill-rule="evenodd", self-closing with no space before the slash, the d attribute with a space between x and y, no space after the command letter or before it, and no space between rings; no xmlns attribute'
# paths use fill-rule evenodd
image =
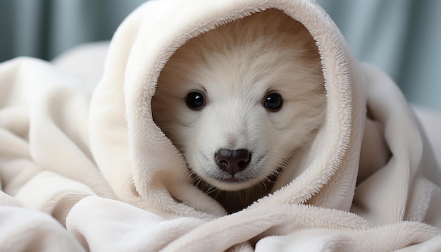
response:
<svg viewBox="0 0 441 252"><path fill-rule="evenodd" d="M302 23L316 41L327 111L313 148L304 160L292 161L287 169L302 166L304 172L282 175L273 193L251 208L309 203L357 211L353 200L366 123L365 73L369 71L354 60L333 20L307 0L148 1L128 16L111 41L89 122L92 153L119 199L162 214L199 218L226 214L193 186L185 160L152 118L151 99L162 68L189 39L271 8ZM415 139L420 141L419 135ZM416 153L414 160L418 158L421 155Z"/></svg>

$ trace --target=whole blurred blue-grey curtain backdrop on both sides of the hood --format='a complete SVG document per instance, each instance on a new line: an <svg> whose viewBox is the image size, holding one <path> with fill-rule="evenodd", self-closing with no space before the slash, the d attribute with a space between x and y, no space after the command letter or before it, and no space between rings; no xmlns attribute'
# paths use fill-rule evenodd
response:
<svg viewBox="0 0 441 252"><path fill-rule="evenodd" d="M111 39L145 0L0 0L0 62L50 60L77 44ZM406 98L441 111L441 1L316 0L356 58L388 73Z"/></svg>

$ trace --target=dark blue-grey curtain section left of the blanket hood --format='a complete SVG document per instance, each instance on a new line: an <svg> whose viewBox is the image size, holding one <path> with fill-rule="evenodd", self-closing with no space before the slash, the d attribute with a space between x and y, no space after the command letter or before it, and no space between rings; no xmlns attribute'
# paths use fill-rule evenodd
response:
<svg viewBox="0 0 441 252"><path fill-rule="evenodd" d="M0 0L0 61L51 59L77 44L110 39L145 0Z"/></svg>

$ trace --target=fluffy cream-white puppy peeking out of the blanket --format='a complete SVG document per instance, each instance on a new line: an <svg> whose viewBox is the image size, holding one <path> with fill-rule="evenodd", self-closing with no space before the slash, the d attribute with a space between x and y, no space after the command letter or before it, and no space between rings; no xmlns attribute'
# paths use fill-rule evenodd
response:
<svg viewBox="0 0 441 252"><path fill-rule="evenodd" d="M194 184L235 212L268 194L323 124L318 49L280 11L254 13L175 51L151 106Z"/></svg>

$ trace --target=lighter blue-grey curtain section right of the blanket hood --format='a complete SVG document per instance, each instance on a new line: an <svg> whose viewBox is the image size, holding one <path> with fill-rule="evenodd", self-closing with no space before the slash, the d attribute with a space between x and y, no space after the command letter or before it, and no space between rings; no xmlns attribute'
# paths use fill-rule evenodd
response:
<svg viewBox="0 0 441 252"><path fill-rule="evenodd" d="M355 56L385 70L412 103L441 111L441 1L318 0Z"/></svg>

